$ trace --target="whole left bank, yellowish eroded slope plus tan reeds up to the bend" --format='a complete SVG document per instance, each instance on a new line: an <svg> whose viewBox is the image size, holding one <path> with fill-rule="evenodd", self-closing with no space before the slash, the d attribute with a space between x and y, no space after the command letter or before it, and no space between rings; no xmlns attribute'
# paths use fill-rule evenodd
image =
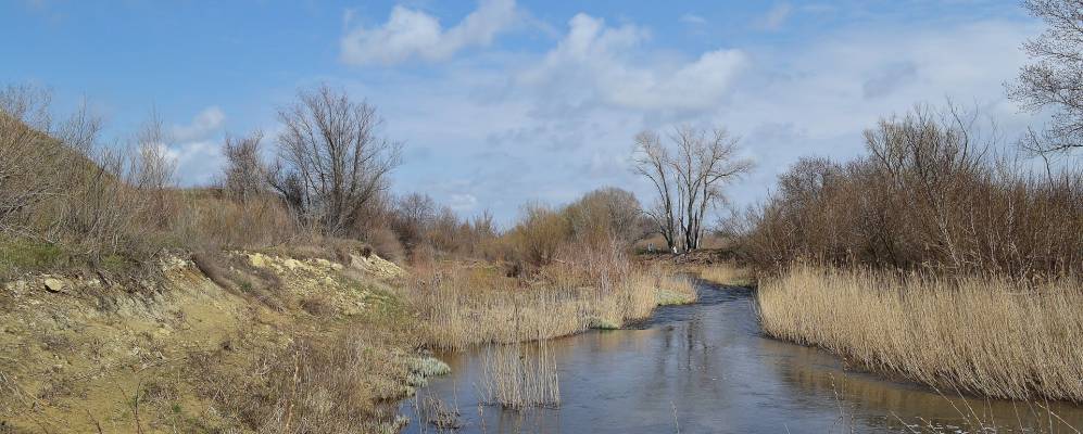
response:
<svg viewBox="0 0 1083 434"><path fill-rule="evenodd" d="M448 371L427 348L619 328L695 301L689 279L617 259L513 278L312 247L27 273L0 292L0 432L398 432L394 403Z"/></svg>

